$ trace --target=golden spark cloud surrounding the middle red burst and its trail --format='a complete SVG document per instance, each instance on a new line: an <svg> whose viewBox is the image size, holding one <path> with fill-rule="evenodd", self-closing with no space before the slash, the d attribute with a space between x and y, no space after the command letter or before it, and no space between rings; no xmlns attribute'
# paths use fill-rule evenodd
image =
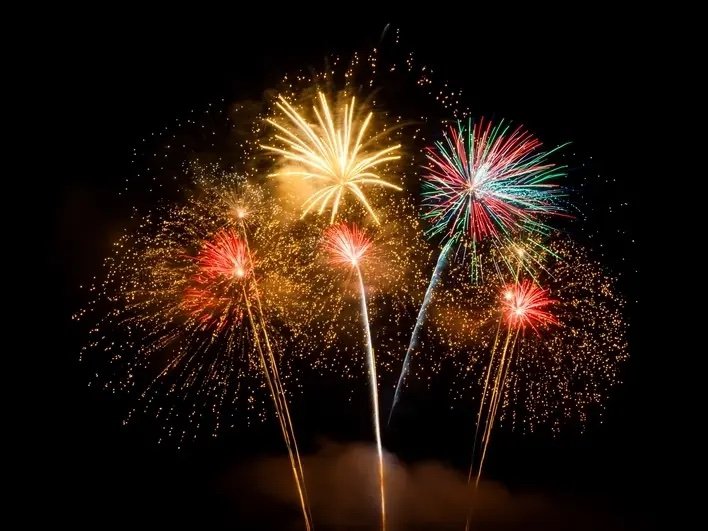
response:
<svg viewBox="0 0 708 531"><path fill-rule="evenodd" d="M376 260L361 260L359 267L366 280L369 317L377 324L373 338L377 372L384 376L398 370L401 330L413 326L430 249L422 238L415 205L406 198L381 199L385 222L380 225L363 225L353 204L343 206L340 216L359 221L376 242ZM279 213L288 214L288 209ZM258 270L267 270L260 282L264 305L274 326L289 331L281 334L287 340L288 359L303 371L336 374L351 382L347 392L354 396L360 367L366 363L356 278L343 277L340 267L327 267L332 257L322 245L322 234L330 227L328 219L290 221L270 235L268 263L259 259Z"/></svg>

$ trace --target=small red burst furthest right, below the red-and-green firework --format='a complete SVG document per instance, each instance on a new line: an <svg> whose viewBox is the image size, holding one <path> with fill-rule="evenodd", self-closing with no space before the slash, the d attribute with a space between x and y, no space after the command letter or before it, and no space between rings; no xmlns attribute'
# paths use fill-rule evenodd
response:
<svg viewBox="0 0 708 531"><path fill-rule="evenodd" d="M538 331L539 326L558 324L547 307L555 304L548 297L548 291L530 280L512 284L502 292L502 312L510 327L526 328L530 326Z"/></svg>

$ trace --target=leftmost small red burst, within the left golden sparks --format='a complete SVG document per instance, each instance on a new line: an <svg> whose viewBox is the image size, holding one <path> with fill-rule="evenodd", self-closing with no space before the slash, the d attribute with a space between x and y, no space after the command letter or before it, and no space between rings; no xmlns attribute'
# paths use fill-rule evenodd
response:
<svg viewBox="0 0 708 531"><path fill-rule="evenodd" d="M251 273L246 242L232 229L218 232L197 257L200 271L208 277L243 280Z"/></svg>

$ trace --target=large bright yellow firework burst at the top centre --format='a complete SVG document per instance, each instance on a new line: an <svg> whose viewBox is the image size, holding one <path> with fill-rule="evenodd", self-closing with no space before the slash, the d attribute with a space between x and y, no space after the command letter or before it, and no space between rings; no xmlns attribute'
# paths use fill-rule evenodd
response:
<svg viewBox="0 0 708 531"><path fill-rule="evenodd" d="M317 190L303 204L302 217L311 211L322 214L331 208L330 223L333 223L344 194L350 192L378 223L379 219L363 188L383 186L401 190L384 181L377 173L381 165L400 158L396 154L400 145L371 148L372 139L365 137L372 113L363 120L355 119L356 101L353 97L350 103L344 105L339 124L335 123L329 102L321 92L319 108L316 105L312 108L316 124L308 123L282 96L279 100L276 105L288 118L290 127L269 119L268 122L280 131L275 138L282 142L283 147L263 148L300 167L273 175L297 177L316 185Z"/></svg>

